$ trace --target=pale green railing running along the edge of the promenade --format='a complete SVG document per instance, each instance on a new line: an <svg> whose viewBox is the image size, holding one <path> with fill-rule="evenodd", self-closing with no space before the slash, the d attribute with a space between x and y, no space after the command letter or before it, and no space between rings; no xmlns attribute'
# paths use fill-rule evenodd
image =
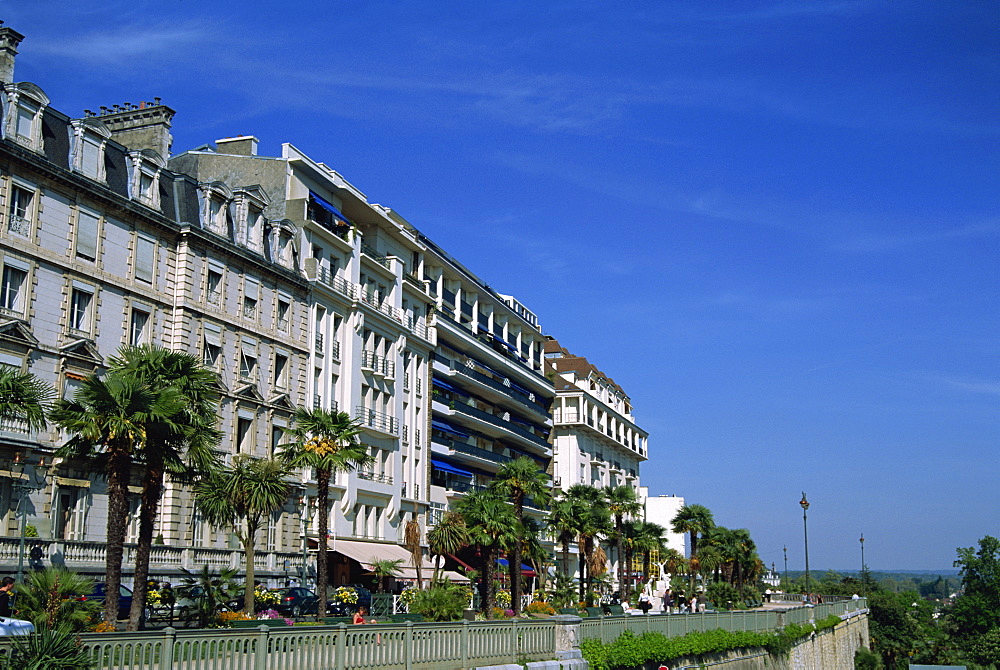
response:
<svg viewBox="0 0 1000 670"><path fill-rule="evenodd" d="M773 630L867 607L864 599L776 611L709 612L583 619L579 639L611 642L622 632L679 636L723 628ZM571 620L572 621L572 620ZM450 623L292 626L257 629L85 633L97 670L422 670L470 668L555 657L556 627L548 619ZM0 638L0 655L10 650Z"/></svg>

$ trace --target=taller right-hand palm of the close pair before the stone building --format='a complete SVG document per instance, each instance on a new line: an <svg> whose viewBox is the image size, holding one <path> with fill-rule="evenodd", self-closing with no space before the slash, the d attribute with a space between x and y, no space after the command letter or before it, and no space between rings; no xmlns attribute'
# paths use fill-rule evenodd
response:
<svg viewBox="0 0 1000 670"><path fill-rule="evenodd" d="M135 551L135 589L127 630L138 630L146 606L149 558L166 473L193 480L218 467L214 447L220 432L218 377L189 353L154 345L125 346L109 360L111 372L158 389L173 389L181 398L169 423L154 424L143 449L136 454L142 465L139 535Z"/></svg>

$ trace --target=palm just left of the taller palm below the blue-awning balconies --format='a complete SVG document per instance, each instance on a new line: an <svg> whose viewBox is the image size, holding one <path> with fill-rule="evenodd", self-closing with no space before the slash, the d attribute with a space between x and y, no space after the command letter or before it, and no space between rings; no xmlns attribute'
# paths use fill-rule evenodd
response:
<svg viewBox="0 0 1000 670"><path fill-rule="evenodd" d="M517 519L510 505L490 490L467 493L456 503L455 509L465 518L470 544L479 548L482 611L492 617L497 558L503 547L516 541L520 533Z"/></svg>

